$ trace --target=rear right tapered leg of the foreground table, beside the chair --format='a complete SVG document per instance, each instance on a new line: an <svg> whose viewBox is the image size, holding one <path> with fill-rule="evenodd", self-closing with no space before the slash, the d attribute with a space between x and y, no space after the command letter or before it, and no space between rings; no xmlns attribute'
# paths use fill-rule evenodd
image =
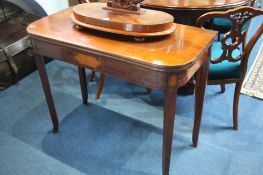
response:
<svg viewBox="0 0 263 175"><path fill-rule="evenodd" d="M205 96L205 87L207 84L208 77L208 69L209 69L209 59L200 67L200 69L196 72L196 85L195 85L195 119L194 119L194 129L193 129L193 146L197 147L199 130L201 125L201 118L203 112L203 103Z"/></svg>

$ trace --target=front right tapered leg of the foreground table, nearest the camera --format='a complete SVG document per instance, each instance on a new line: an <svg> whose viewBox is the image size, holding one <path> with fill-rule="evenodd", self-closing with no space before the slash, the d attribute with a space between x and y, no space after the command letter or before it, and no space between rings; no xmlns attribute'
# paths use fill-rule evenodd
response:
<svg viewBox="0 0 263 175"><path fill-rule="evenodd" d="M169 175L171 150L173 143L174 115L176 108L176 89L169 89L164 94L163 119L163 175Z"/></svg>

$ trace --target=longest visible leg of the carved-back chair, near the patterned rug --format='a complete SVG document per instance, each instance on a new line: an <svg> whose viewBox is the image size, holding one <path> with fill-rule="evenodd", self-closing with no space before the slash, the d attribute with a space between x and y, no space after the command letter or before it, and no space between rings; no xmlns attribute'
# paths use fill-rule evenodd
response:
<svg viewBox="0 0 263 175"><path fill-rule="evenodd" d="M234 104L233 104L233 125L235 130L238 130L238 102L239 102L241 86L242 86L242 82L236 83Z"/></svg>

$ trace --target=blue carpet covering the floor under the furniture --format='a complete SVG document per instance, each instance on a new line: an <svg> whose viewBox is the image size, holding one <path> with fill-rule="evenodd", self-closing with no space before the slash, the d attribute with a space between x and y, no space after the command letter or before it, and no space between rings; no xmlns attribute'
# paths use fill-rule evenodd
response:
<svg viewBox="0 0 263 175"><path fill-rule="evenodd" d="M85 106L76 67L53 61L47 71L60 132L51 132L37 72L1 92L1 175L161 174L162 92L147 95L141 86L107 77L100 100L94 100L97 81L89 83ZM234 131L233 90L227 85L220 94L218 86L207 87L197 149L191 146L194 97L178 97L171 175L263 174L262 101L241 95L240 129Z"/></svg>

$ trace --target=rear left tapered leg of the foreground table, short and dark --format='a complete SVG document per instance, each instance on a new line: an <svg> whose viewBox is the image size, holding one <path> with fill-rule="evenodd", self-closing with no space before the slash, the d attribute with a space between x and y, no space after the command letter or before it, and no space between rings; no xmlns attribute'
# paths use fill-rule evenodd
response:
<svg viewBox="0 0 263 175"><path fill-rule="evenodd" d="M88 90L87 90L88 86L87 86L85 68L78 66L78 72L79 72L79 81L80 81L82 101L83 101L83 104L87 104L87 102L88 102Z"/></svg>

